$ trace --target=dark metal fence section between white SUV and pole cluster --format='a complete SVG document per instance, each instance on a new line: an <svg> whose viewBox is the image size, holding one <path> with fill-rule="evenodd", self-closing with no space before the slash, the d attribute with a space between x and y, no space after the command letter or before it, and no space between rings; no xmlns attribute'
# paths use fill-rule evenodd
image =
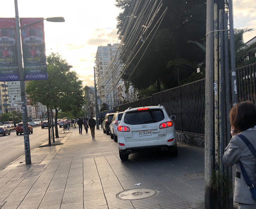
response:
<svg viewBox="0 0 256 209"><path fill-rule="evenodd" d="M120 105L118 110L124 111L128 107L161 104L165 107L168 115L176 116L177 131L204 134L204 86L205 80L198 80Z"/></svg>

